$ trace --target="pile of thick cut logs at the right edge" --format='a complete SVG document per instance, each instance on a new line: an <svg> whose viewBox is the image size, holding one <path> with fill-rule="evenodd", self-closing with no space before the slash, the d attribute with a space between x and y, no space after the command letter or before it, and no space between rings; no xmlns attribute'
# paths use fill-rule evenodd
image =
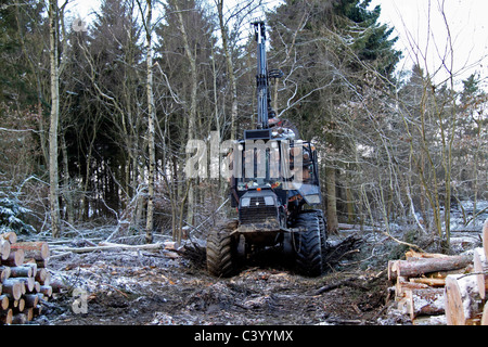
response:
<svg viewBox="0 0 488 347"><path fill-rule="evenodd" d="M422 317L445 316L448 325L488 325L488 220L483 247L447 256L409 250L388 262L397 307L415 324Z"/></svg>

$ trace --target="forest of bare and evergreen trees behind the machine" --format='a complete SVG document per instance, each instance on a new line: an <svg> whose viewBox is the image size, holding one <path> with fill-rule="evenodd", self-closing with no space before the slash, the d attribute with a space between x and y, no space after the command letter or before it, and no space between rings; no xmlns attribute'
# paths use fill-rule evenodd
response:
<svg viewBox="0 0 488 347"><path fill-rule="evenodd" d="M465 228L487 213L486 81L454 69L445 1L428 2L447 33L432 35L434 67L414 39L396 49L369 0L102 0L89 25L68 3L0 8L2 231L111 223L152 242L231 214L227 180L185 177L185 149L254 127L262 9L269 66L284 73L272 106L316 143L329 232L373 226L447 252L452 208Z"/></svg>

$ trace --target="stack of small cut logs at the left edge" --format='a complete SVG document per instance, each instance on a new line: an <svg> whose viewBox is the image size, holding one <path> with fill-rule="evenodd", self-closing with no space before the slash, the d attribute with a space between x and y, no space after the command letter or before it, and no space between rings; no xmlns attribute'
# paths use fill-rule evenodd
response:
<svg viewBox="0 0 488 347"><path fill-rule="evenodd" d="M17 242L14 232L0 234L0 324L25 324L52 296L50 255L46 242Z"/></svg>

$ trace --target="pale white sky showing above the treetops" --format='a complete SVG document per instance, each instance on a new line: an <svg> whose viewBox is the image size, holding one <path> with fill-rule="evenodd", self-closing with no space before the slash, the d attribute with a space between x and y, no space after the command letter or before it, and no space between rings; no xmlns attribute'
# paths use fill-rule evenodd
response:
<svg viewBox="0 0 488 347"><path fill-rule="evenodd" d="M74 17L88 21L100 2L72 0L68 10ZM410 70L420 60L436 82L444 82L452 70L459 87L461 80L479 73L488 87L488 0L372 0L370 8L377 4L382 8L380 22L395 28L396 49L403 52L399 69Z"/></svg>

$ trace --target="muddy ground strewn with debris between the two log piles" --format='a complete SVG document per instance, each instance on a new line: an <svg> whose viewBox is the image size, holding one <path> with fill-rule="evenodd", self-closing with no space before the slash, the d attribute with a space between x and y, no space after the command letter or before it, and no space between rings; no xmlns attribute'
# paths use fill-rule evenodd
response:
<svg viewBox="0 0 488 347"><path fill-rule="evenodd" d="M339 235L336 243L347 236ZM105 250L55 256L49 269L67 291L46 304L36 323L409 324L403 317L387 314L391 305L386 279L388 242L382 235L354 237L359 242L343 249L319 278L297 274L273 249L251 259L229 279L210 277L204 254L193 245L178 253Z"/></svg>

